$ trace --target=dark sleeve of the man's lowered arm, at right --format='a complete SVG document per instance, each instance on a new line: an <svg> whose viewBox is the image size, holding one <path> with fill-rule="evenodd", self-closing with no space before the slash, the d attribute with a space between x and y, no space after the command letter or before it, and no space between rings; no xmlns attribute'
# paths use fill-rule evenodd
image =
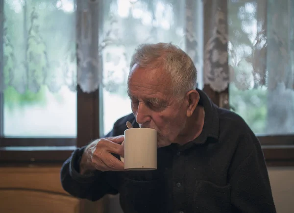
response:
<svg viewBox="0 0 294 213"><path fill-rule="evenodd" d="M230 176L231 202L236 213L276 213L264 155L258 139L243 137Z"/></svg>

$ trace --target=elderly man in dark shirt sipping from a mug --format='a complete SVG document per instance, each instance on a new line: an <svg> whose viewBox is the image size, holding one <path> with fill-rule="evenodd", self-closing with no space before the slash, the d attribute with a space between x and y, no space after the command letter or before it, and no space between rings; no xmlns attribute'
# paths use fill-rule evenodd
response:
<svg viewBox="0 0 294 213"><path fill-rule="evenodd" d="M133 114L73 152L63 188L93 201L120 193L125 213L275 213L260 143L242 118L196 89L191 58L172 44L147 44L130 68ZM157 130L157 170L123 171L126 121Z"/></svg>

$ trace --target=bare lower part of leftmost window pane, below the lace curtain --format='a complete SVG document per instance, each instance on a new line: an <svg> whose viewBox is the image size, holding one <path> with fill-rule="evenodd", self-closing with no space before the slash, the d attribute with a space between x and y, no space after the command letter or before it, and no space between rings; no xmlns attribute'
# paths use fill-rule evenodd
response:
<svg viewBox="0 0 294 213"><path fill-rule="evenodd" d="M24 95L9 88L3 103L5 137L76 137L76 93L66 87L56 94L44 88Z"/></svg>

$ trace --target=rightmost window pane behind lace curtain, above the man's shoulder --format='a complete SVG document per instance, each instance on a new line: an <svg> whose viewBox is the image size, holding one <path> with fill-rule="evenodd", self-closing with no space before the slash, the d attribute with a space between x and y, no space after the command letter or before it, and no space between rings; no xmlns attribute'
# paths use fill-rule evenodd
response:
<svg viewBox="0 0 294 213"><path fill-rule="evenodd" d="M230 105L258 136L294 135L294 16L288 6L228 3Z"/></svg>

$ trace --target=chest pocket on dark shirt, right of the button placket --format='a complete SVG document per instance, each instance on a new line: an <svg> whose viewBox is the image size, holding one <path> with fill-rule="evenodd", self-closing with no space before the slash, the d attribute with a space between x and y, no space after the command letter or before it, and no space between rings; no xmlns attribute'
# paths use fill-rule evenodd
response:
<svg viewBox="0 0 294 213"><path fill-rule="evenodd" d="M217 186L209 181L196 181L194 209L196 212L231 212L231 185Z"/></svg>

